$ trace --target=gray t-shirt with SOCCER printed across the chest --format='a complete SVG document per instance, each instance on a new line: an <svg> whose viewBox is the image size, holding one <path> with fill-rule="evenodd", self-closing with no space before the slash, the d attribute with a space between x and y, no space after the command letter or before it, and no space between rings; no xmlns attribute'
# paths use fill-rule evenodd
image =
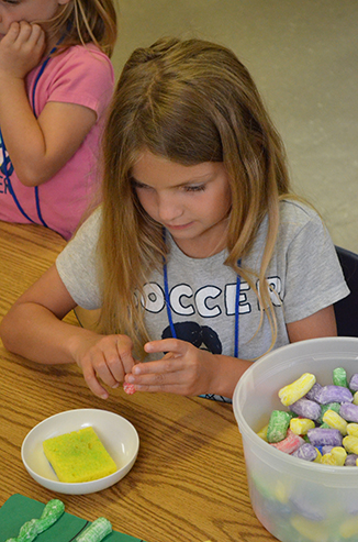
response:
<svg viewBox="0 0 358 542"><path fill-rule="evenodd" d="M98 279L100 264L96 258L100 220L101 211L97 210L59 254L56 263L70 296L85 309L97 309L102 303ZM267 220L264 220L243 266L258 273L266 235ZM226 251L208 258L191 258L180 251L170 235L167 235L167 242L170 245L170 314L177 336L213 353L234 355L236 274L223 265ZM349 294L335 247L322 220L310 207L293 200L280 203L279 235L267 278L275 289L271 296L278 325L275 347L289 343L287 323L306 318ZM163 272L153 273L144 291L142 305L150 339L168 336ZM238 357L255 360L269 349L270 324L264 318L257 332L259 322L257 296L242 280Z"/></svg>

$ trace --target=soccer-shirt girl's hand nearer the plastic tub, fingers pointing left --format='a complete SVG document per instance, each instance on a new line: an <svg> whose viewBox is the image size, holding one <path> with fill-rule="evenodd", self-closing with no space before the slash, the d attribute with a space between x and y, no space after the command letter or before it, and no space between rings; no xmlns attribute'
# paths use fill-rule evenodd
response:
<svg viewBox="0 0 358 542"><path fill-rule="evenodd" d="M213 381L220 372L219 356L178 339L152 341L147 353L167 352L157 362L139 363L126 374L125 381L136 391L167 391L183 396L215 392Z"/></svg>

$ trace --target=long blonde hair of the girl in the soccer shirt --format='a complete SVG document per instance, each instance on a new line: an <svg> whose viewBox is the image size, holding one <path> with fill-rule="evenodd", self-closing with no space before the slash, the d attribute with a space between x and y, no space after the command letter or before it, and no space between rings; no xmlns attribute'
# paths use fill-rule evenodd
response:
<svg viewBox="0 0 358 542"><path fill-rule="evenodd" d="M277 325L265 273L279 200L290 192L286 153L245 66L232 51L201 40L161 38L136 49L118 82L103 144L101 330L130 334L138 352L147 340L142 287L161 268L167 247L160 224L143 210L131 184L131 167L143 150L182 165L225 165L232 190L225 264L256 291L261 321L269 308L273 345ZM249 253L264 217L267 242L255 273L237 262Z"/></svg>

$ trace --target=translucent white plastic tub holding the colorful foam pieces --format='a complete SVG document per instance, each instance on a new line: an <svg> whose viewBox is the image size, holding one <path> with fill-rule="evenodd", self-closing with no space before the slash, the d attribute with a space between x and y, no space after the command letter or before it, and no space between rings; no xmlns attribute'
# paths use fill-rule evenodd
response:
<svg viewBox="0 0 358 542"><path fill-rule="evenodd" d="M288 410L278 398L280 388L303 373L332 384L336 367L347 370L348 381L358 373L358 339L313 339L278 349L255 362L235 388L251 505L281 542L358 541L358 467L299 460L256 434L273 409Z"/></svg>

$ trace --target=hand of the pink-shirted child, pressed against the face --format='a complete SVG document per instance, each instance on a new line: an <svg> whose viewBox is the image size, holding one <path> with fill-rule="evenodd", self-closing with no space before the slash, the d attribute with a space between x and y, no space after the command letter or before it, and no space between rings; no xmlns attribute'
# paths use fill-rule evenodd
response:
<svg viewBox="0 0 358 542"><path fill-rule="evenodd" d="M0 41L0 77L23 79L38 65L45 52L45 32L38 24L11 23ZM1 81L5 84L5 79Z"/></svg>

